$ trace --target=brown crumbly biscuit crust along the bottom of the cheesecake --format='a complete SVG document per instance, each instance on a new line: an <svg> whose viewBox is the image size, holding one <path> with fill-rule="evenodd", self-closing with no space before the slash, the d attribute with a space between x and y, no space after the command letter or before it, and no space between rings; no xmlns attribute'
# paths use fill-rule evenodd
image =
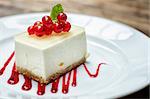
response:
<svg viewBox="0 0 150 99"><path fill-rule="evenodd" d="M38 81L40 83L49 84L50 82L56 80L57 78L61 77L62 75L68 73L72 69L75 69L78 66L80 66L81 64L85 63L85 61L86 61L86 58L84 57L79 62L72 64L71 66L67 67L66 69L50 75L46 80L44 80L42 77L37 76L36 74L32 73L31 71L29 71L25 68L21 68L19 66L16 66L16 68L17 68L17 71L22 75L25 75L25 76L27 76L35 81Z"/></svg>

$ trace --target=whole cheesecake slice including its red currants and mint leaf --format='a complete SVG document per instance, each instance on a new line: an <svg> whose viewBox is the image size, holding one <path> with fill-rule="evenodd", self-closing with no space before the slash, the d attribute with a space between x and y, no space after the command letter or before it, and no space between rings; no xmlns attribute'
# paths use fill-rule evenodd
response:
<svg viewBox="0 0 150 99"><path fill-rule="evenodd" d="M19 73L48 84L86 61L85 30L71 25L60 4L15 37Z"/></svg>

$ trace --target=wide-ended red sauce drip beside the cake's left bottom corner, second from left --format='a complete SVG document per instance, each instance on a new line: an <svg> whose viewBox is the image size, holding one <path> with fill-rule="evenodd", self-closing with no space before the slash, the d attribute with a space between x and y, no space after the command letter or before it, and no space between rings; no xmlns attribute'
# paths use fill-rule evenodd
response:
<svg viewBox="0 0 150 99"><path fill-rule="evenodd" d="M16 69L16 64L14 63L11 76L8 79L7 83L14 85L14 84L17 84L18 82L19 82L19 73Z"/></svg>

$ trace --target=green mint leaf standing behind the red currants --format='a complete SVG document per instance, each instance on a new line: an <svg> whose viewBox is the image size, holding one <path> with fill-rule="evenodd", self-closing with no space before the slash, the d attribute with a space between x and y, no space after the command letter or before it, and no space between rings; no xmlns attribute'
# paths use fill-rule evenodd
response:
<svg viewBox="0 0 150 99"><path fill-rule="evenodd" d="M63 9L63 7L62 7L61 4L55 5L55 6L52 8L52 11L51 11L51 14L50 14L52 20L53 20L53 21L57 20L58 14L61 13L61 12L63 12L63 11L64 11L64 9Z"/></svg>

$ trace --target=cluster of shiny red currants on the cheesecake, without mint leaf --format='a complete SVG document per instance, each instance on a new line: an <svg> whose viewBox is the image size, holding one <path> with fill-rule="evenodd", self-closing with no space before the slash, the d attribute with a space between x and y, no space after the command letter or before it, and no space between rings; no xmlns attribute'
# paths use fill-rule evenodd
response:
<svg viewBox="0 0 150 99"><path fill-rule="evenodd" d="M55 33L68 32L71 28L71 24L67 22L67 15L65 13L59 13L57 16L57 22L53 22L50 16L44 16L41 21L37 21L33 26L28 27L29 35L35 34L38 37L43 35L51 35Z"/></svg>

